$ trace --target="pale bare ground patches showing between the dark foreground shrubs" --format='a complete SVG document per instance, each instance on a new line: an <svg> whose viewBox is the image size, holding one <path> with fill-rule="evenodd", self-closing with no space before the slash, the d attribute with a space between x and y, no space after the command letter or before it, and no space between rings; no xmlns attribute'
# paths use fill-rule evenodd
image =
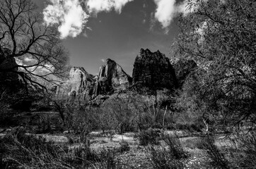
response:
<svg viewBox="0 0 256 169"><path fill-rule="evenodd" d="M170 133L171 131L168 131ZM4 134L1 134L2 136ZM107 134L100 134L100 132L91 132L90 143L93 151L100 151L102 149L118 149L120 142L127 142L129 144L129 151L118 152L115 156L115 163L118 163L122 168L153 168L151 164L151 156L149 153L149 146L140 146L139 140L134 138L135 133L127 132L124 134L114 134L110 139ZM82 146L78 140L78 136L66 134L37 134L37 137L44 137L47 141L55 142L56 144L67 144L69 149ZM216 135L216 144L219 147L228 143L223 139L223 135ZM186 169L189 168L211 168L209 165L210 158L207 157L205 150L197 147L197 141L200 137L181 137L180 142L188 154L187 158L182 159Z"/></svg>

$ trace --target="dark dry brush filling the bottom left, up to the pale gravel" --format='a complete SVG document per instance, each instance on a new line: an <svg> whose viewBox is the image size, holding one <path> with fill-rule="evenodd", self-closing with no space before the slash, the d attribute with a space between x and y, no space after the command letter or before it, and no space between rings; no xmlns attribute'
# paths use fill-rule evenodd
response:
<svg viewBox="0 0 256 169"><path fill-rule="evenodd" d="M26 134L16 128L0 139L0 168L118 168L115 150L93 151L90 145L71 148Z"/></svg>

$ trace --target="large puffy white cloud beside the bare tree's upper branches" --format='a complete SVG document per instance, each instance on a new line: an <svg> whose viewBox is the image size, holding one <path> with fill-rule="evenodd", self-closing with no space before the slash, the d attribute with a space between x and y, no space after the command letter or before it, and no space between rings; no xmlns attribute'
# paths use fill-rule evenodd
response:
<svg viewBox="0 0 256 169"><path fill-rule="evenodd" d="M50 0L43 14L47 25L59 24L62 39L81 34L89 17L78 0Z"/></svg>

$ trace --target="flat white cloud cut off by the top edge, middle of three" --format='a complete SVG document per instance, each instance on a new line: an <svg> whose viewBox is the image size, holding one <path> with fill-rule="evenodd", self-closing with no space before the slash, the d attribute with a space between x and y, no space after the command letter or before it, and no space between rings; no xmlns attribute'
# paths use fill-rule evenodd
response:
<svg viewBox="0 0 256 169"><path fill-rule="evenodd" d="M121 13L122 8L130 1L134 0L88 0L87 7L89 13L100 13L100 12L109 12L113 9Z"/></svg>

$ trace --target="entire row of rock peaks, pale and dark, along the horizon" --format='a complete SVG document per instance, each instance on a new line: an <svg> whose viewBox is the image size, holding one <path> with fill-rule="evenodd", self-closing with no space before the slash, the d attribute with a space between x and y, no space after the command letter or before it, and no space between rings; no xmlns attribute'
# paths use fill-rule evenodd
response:
<svg viewBox="0 0 256 169"><path fill-rule="evenodd" d="M172 93L182 85L194 66L197 65L191 61L178 62L175 65L177 78L175 69L165 54L141 49L135 58L132 77L108 58L95 76L88 74L83 68L72 68L69 80L62 85L66 86L66 89L62 91L71 98L83 98L86 101L105 100L110 95L127 91L131 87L140 93L146 92L144 94L150 95L157 95L159 91Z"/></svg>

